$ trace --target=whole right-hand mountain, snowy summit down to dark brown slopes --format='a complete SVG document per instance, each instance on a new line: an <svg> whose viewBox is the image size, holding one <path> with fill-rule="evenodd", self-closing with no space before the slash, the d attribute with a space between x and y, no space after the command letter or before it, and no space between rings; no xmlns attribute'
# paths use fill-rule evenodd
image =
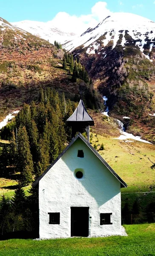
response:
<svg viewBox="0 0 155 256"><path fill-rule="evenodd" d="M115 13L63 47L80 59L108 98L109 115L155 143L155 22Z"/></svg>

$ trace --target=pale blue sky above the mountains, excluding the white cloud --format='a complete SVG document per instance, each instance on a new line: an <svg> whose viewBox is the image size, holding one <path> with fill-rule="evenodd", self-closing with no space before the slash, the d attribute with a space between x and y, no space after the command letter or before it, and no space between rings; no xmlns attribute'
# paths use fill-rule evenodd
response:
<svg viewBox="0 0 155 256"><path fill-rule="evenodd" d="M37 20L47 22L59 12L89 15L97 0L0 0L0 17L9 22ZM131 12L155 21L155 0L106 0L111 12Z"/></svg>

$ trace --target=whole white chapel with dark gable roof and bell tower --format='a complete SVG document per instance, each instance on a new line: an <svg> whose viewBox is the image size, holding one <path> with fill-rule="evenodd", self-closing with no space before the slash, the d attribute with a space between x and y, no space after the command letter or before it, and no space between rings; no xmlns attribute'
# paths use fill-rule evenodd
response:
<svg viewBox="0 0 155 256"><path fill-rule="evenodd" d="M39 186L39 236L121 235L121 188L126 183L89 143L83 101L67 120L73 139L32 186ZM88 140L76 131L87 131Z"/></svg>

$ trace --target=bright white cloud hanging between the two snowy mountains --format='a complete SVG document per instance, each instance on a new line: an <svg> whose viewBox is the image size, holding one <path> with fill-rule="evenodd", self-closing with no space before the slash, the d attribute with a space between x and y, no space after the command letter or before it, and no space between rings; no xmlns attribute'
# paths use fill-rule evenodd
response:
<svg viewBox="0 0 155 256"><path fill-rule="evenodd" d="M47 23L55 26L64 32L81 33L89 27L96 26L97 23L102 21L107 16L111 15L112 12L107 9L106 2L98 2L91 9L91 13L88 15L69 15L66 12L58 12L53 20Z"/></svg>

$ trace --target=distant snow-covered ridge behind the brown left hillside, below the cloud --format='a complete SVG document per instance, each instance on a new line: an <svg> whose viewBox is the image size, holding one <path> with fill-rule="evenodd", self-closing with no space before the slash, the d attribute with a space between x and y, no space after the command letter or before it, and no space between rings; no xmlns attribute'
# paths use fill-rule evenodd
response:
<svg viewBox="0 0 155 256"><path fill-rule="evenodd" d="M23 29L32 35L43 38L50 43L58 41L63 44L65 41L70 41L75 37L73 32L63 32L58 28L51 26L50 22L44 23L39 21L23 20L19 22L12 22L13 26Z"/></svg>

